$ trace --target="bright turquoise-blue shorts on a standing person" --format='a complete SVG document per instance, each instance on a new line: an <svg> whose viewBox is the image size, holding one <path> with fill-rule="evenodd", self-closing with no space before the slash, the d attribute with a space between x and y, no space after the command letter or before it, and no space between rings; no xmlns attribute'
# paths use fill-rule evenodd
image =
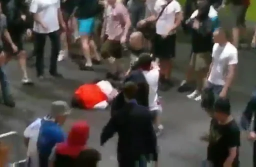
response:
<svg viewBox="0 0 256 167"><path fill-rule="evenodd" d="M90 35L94 29L94 17L78 19L79 35Z"/></svg>

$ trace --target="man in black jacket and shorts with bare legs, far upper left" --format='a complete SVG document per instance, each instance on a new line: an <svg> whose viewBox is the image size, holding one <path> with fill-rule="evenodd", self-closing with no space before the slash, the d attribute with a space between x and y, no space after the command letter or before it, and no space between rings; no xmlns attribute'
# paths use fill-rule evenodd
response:
<svg viewBox="0 0 256 167"><path fill-rule="evenodd" d="M27 36L31 36L32 22L29 19L28 6L24 0L1 0L2 12L6 15L7 29L14 44L17 46L17 51L13 52L11 45L7 41L3 41L3 49L6 52L6 62L13 55L18 57L23 78L22 84L31 85L32 81L27 76L26 57L27 53L23 48L22 37L26 32Z"/></svg>

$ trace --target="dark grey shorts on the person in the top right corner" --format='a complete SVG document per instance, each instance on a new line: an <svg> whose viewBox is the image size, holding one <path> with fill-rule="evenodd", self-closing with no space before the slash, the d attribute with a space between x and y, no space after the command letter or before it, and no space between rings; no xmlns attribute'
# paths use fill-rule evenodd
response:
<svg viewBox="0 0 256 167"><path fill-rule="evenodd" d="M245 5L230 5L231 17L234 23L234 26L245 27L245 16L248 6Z"/></svg>

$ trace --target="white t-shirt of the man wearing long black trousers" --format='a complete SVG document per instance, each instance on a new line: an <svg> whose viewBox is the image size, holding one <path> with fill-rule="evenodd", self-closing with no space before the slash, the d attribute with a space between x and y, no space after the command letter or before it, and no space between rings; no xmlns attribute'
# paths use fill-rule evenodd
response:
<svg viewBox="0 0 256 167"><path fill-rule="evenodd" d="M45 23L47 29L34 21L33 30L38 33L49 33L59 29L58 8L60 0L32 0L29 11L38 13L40 19Z"/></svg>

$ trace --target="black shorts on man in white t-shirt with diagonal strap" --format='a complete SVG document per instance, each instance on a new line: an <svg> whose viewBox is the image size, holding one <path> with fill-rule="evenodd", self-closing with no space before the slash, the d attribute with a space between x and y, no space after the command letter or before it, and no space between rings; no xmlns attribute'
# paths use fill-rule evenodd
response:
<svg viewBox="0 0 256 167"><path fill-rule="evenodd" d="M162 38L156 34L153 42L153 54L160 59L169 59L175 57L176 34L168 35Z"/></svg>

